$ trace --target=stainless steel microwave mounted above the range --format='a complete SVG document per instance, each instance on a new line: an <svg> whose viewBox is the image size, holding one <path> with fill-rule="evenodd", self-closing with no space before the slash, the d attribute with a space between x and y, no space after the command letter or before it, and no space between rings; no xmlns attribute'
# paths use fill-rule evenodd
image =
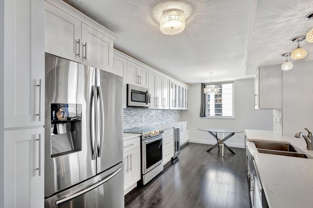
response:
<svg viewBox="0 0 313 208"><path fill-rule="evenodd" d="M149 107L150 92L149 89L127 84L127 106L129 107Z"/></svg>

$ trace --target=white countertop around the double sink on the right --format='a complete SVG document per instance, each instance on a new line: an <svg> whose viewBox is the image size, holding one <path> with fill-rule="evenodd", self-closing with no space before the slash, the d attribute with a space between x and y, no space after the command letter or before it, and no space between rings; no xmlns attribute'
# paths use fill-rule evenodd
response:
<svg viewBox="0 0 313 208"><path fill-rule="evenodd" d="M247 146L260 173L270 208L313 208L313 159L259 153L250 140L290 143L306 154L303 138L281 136L273 131L246 129Z"/></svg>

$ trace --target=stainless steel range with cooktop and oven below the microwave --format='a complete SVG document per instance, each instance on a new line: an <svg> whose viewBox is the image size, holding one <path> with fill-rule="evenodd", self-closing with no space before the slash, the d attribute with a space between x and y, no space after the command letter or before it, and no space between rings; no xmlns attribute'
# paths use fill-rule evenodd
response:
<svg viewBox="0 0 313 208"><path fill-rule="evenodd" d="M131 128L124 132L141 134L141 179L146 185L163 170L163 129Z"/></svg>

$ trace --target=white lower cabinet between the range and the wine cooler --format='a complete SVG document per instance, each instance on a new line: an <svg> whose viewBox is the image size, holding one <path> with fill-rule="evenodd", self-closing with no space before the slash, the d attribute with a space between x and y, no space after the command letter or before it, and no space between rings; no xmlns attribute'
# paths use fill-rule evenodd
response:
<svg viewBox="0 0 313 208"><path fill-rule="evenodd" d="M163 132L163 166L171 161L174 156L174 128Z"/></svg>

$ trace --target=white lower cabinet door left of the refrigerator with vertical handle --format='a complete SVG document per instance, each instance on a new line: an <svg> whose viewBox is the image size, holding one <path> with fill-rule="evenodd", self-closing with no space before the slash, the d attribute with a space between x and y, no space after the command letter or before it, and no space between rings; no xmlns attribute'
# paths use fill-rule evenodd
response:
<svg viewBox="0 0 313 208"><path fill-rule="evenodd" d="M4 207L44 207L45 128L4 131Z"/></svg>

